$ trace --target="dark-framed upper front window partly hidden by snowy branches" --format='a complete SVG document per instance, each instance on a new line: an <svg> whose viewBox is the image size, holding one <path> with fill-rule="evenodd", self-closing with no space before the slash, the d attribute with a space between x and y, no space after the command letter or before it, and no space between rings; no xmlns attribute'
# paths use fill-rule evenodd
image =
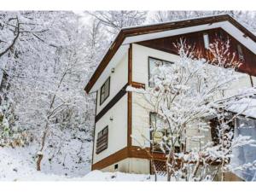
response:
<svg viewBox="0 0 256 192"><path fill-rule="evenodd" d="M149 87L154 87L154 82L152 82L152 74L154 73L154 69L156 67L160 66L170 66L172 65L173 62L171 61L165 61L165 60L160 60L156 59L153 57L148 57L148 85Z"/></svg>

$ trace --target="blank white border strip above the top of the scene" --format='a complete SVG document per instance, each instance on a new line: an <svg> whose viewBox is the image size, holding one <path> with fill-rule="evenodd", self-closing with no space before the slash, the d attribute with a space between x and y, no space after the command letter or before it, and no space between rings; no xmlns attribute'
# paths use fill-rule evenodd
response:
<svg viewBox="0 0 256 192"><path fill-rule="evenodd" d="M255 10L253 0L0 0L2 10Z"/></svg>

